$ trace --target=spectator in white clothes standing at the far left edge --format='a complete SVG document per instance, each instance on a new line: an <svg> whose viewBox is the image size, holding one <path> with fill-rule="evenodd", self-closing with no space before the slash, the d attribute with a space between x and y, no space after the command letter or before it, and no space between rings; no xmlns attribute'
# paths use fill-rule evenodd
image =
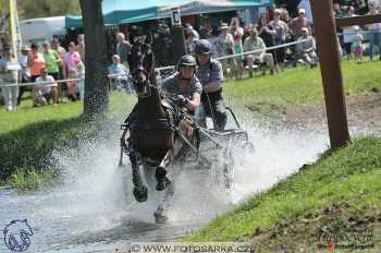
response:
<svg viewBox="0 0 381 253"><path fill-rule="evenodd" d="M21 67L11 56L11 48L4 47L2 49L2 57L0 59L0 86L4 98L4 106L7 111L15 110L17 107L17 83L21 81ZM8 86L4 85L14 85Z"/></svg>

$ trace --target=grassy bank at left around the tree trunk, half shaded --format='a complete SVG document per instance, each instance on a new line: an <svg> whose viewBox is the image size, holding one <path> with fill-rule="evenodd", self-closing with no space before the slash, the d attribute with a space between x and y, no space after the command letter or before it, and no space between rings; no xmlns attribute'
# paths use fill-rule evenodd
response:
<svg viewBox="0 0 381 253"><path fill-rule="evenodd" d="M126 115L133 101L114 93L111 111ZM16 111L0 110L0 181L27 189L49 182L56 166L51 152L96 129L82 112L82 103L33 108L29 100L24 100Z"/></svg>

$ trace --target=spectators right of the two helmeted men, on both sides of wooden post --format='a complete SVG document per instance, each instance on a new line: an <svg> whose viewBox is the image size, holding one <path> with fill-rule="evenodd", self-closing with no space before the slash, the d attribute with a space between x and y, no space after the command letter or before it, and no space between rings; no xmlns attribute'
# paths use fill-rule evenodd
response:
<svg viewBox="0 0 381 253"><path fill-rule="evenodd" d="M380 0L345 0L334 2L333 7L335 17L378 14ZM198 32L190 25L185 28L186 53L194 55L194 45L199 38L208 39L213 45L213 57L222 58L223 72L229 79L242 79L245 69L253 76L256 69L261 69L262 74L267 69L274 74L286 65L302 63L314 68L318 64L314 22L304 8L298 9L297 15L292 17L285 8L270 7L251 24L243 24L236 16L231 19L230 25L221 22L218 27L213 27L207 23ZM343 27L337 32L339 51L348 60L355 58L361 62L365 51L373 60L376 48L380 52L381 23ZM198 34L200 36L196 36ZM293 41L297 44L282 46ZM366 41L369 41L368 47ZM269 47L274 48L268 50ZM229 57L243 51L255 52Z"/></svg>

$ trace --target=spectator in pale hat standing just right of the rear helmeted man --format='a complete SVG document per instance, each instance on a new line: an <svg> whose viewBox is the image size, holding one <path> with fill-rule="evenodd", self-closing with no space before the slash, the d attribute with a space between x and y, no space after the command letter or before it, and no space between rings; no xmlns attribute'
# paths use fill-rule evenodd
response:
<svg viewBox="0 0 381 253"><path fill-rule="evenodd" d="M233 36L229 33L229 26L226 23L221 23L219 27L220 35L216 41L216 52L217 57L225 57L234 55L234 39ZM222 69L224 76L229 75L229 68L235 69L236 61L233 58L222 59L221 60Z"/></svg>

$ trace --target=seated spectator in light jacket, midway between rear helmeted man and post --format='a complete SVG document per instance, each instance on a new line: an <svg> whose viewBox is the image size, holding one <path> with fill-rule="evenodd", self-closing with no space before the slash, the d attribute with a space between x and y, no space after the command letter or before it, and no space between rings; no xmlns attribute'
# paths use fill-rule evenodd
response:
<svg viewBox="0 0 381 253"><path fill-rule="evenodd" d="M271 53L266 52L266 44L261 37L258 36L256 27L249 27L249 36L245 39L244 51L254 51L254 53L246 55L247 65L249 68L249 76L253 77L253 69L255 62L263 63L270 68L270 73L273 74L275 70L274 59ZM266 73L265 70L262 72Z"/></svg>

